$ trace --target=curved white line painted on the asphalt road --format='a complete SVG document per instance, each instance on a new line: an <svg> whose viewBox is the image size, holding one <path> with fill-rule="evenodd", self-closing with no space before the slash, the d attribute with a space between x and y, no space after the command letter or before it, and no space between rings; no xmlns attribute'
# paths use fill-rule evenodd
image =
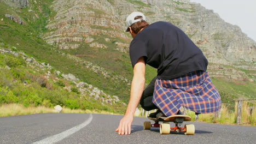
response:
<svg viewBox="0 0 256 144"><path fill-rule="evenodd" d="M75 132L77 132L78 130L84 128L86 125L88 125L90 122L92 121L92 114L90 114L90 117L88 119L86 119L85 122L83 122L82 124L79 124L71 129L68 129L66 131L63 131L62 133L60 134L56 134L56 135L53 135L53 136L50 136L50 137L47 137L43 140L40 140L40 141L37 141L37 142L34 142L32 144L41 144L41 143L47 143L47 144L50 144L50 143L55 143L57 141L60 141L62 139L64 139L65 137L69 136L69 135L72 135L74 134Z"/></svg>

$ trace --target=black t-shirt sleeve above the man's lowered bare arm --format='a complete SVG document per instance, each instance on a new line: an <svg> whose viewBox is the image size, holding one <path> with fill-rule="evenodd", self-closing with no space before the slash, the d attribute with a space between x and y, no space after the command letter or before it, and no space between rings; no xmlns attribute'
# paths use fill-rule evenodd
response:
<svg viewBox="0 0 256 144"><path fill-rule="evenodd" d="M147 44L142 40L133 39L130 44L130 58L132 68L134 68L140 57L144 57L144 61L147 62Z"/></svg>

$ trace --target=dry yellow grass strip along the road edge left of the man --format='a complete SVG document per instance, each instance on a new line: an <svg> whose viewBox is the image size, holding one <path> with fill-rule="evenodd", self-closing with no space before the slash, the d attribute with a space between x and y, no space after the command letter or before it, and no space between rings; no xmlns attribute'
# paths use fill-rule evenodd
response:
<svg viewBox="0 0 256 144"><path fill-rule="evenodd" d="M107 112L107 111L91 111L91 110L71 110L63 107L63 113L101 113L101 114L108 114L114 115L114 113ZM30 115L35 113L56 113L53 108L45 107L45 106L37 106L37 107L24 107L21 104L3 104L0 106L0 117L7 117L7 116L18 116L18 115Z"/></svg>

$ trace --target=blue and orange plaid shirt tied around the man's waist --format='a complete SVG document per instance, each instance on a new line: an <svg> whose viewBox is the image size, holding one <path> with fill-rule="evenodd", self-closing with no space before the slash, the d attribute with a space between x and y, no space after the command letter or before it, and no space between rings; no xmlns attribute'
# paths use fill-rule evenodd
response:
<svg viewBox="0 0 256 144"><path fill-rule="evenodd" d="M197 113L216 112L222 101L207 71L195 71L177 79L156 79L153 103L172 116L181 106Z"/></svg>

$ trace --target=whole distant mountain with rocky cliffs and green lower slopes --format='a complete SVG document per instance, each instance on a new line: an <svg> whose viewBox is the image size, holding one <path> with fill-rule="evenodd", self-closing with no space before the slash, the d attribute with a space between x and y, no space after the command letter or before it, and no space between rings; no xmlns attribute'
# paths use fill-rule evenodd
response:
<svg viewBox="0 0 256 144"><path fill-rule="evenodd" d="M223 101L256 98L255 41L200 4L1 0L0 8L1 49L15 47L61 74L72 74L80 82L112 95L109 97L117 95L125 103L132 79L128 53L132 38L124 29L126 16L132 11L144 13L149 23L168 21L181 28L205 53L208 72ZM147 83L155 75L156 70L147 66ZM1 88L5 86L1 84ZM97 99L94 94L88 97Z"/></svg>

